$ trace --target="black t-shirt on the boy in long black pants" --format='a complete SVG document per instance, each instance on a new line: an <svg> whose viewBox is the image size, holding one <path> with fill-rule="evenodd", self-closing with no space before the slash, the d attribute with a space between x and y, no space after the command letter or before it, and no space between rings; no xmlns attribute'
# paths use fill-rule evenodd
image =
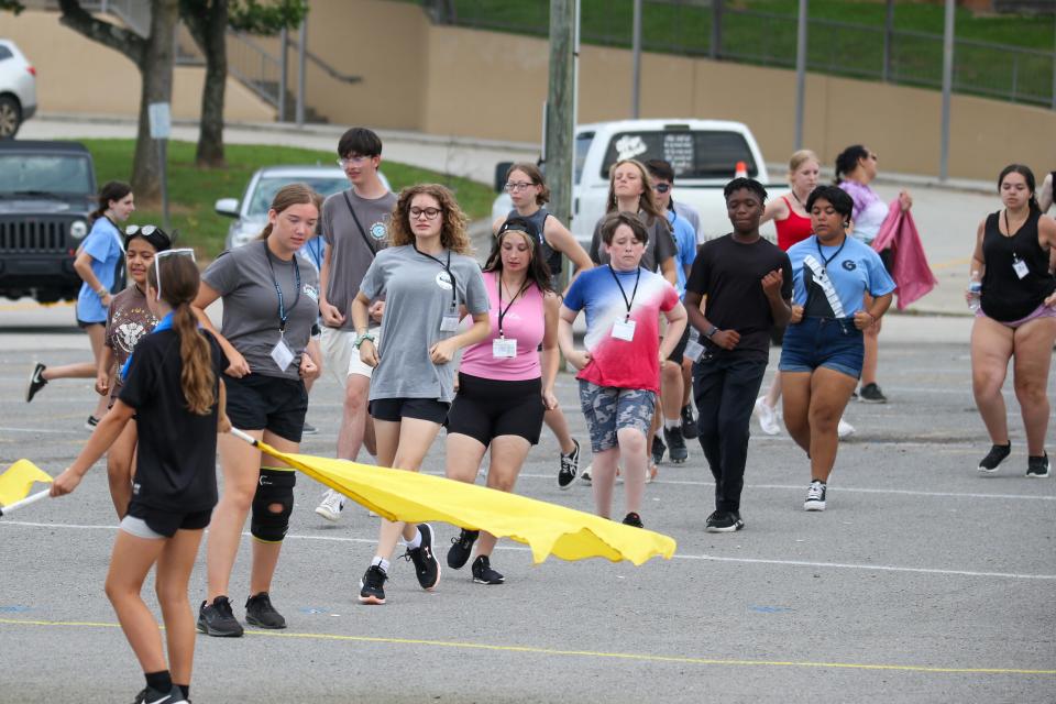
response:
<svg viewBox="0 0 1056 704"><path fill-rule="evenodd" d="M759 238L744 244L727 234L697 250L685 289L707 297L704 315L712 324L740 333L740 342L729 354L769 356L773 316L762 290L762 277L776 268L784 277L781 297L790 300L792 263L788 254L767 240Z"/></svg>

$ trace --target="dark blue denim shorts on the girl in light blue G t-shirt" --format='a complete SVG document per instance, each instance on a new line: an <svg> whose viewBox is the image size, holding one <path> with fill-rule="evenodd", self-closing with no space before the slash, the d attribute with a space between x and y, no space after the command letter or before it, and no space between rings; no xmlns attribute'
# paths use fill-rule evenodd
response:
<svg viewBox="0 0 1056 704"><path fill-rule="evenodd" d="M854 318L803 318L784 331L782 372L813 372L820 366L861 378L861 330Z"/></svg>

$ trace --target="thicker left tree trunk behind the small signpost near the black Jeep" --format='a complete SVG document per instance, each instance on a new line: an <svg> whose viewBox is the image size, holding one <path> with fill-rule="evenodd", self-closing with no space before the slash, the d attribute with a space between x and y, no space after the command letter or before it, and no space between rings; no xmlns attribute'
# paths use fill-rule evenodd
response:
<svg viewBox="0 0 1056 704"><path fill-rule="evenodd" d="M146 41L143 59L139 64L142 77L140 94L140 125L132 161L132 190L136 200L155 205L161 202L161 165L157 143L151 139L150 105L173 100L173 63L178 0L151 1L151 36Z"/></svg>

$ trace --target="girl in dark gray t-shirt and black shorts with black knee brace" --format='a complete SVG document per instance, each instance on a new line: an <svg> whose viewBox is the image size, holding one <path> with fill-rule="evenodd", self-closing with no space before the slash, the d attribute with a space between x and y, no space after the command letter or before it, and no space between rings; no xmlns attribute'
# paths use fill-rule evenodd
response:
<svg viewBox="0 0 1056 704"><path fill-rule="evenodd" d="M261 238L223 252L202 274L195 312L213 329L206 308L223 299L217 336L228 356L228 415L283 452L297 452L308 410L305 380L319 375L307 353L319 315L319 277L299 250L319 220L315 191L304 184L275 194ZM165 283L162 283L165 286ZM246 516L252 510L253 565L245 619L261 628L285 628L272 606L272 578L294 508L294 470L232 437L220 440L223 496L217 505L207 549L208 598L198 629L238 637L242 625L231 609L230 580Z"/></svg>

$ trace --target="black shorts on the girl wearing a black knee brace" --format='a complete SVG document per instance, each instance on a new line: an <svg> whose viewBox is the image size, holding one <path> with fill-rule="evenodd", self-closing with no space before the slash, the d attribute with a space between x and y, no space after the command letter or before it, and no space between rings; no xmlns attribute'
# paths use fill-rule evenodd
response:
<svg viewBox="0 0 1056 704"><path fill-rule="evenodd" d="M290 442L300 442L308 413L308 392L302 381L246 374L224 374L228 418L240 430L267 430Z"/></svg>

